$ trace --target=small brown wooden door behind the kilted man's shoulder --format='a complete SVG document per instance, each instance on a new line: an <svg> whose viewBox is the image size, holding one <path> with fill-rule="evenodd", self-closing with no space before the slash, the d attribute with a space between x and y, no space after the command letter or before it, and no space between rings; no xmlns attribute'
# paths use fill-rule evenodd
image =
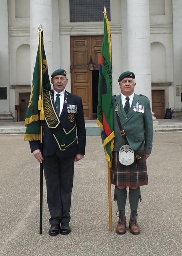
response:
<svg viewBox="0 0 182 256"><path fill-rule="evenodd" d="M164 90L152 90L152 111L157 119L164 118Z"/></svg>

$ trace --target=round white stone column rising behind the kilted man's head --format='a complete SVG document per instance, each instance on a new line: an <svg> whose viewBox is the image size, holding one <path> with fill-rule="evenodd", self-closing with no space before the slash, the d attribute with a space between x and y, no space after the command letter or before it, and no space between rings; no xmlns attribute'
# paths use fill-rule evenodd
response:
<svg viewBox="0 0 182 256"><path fill-rule="evenodd" d="M136 75L135 92L151 101L149 1L128 0L127 8L128 70Z"/></svg>

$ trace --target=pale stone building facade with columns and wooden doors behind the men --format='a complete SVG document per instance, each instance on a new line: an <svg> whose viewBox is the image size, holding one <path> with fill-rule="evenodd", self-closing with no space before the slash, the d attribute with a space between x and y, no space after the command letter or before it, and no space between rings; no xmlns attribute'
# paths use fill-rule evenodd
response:
<svg viewBox="0 0 182 256"><path fill-rule="evenodd" d="M113 94L118 77L136 74L136 90L150 98L154 120L182 118L181 0L1 0L0 121L23 121L44 31L49 74L64 68L67 90L82 97L86 120L96 116L104 4L112 40ZM87 63L92 58L94 70ZM20 110L16 110L16 109Z"/></svg>

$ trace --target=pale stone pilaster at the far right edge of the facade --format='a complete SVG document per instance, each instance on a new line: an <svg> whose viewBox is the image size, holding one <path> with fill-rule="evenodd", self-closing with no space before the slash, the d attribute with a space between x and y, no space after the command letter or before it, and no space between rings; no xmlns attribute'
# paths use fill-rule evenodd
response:
<svg viewBox="0 0 182 256"><path fill-rule="evenodd" d="M181 97L182 92L182 1L172 1L173 24L173 62L174 62L174 110L172 118L182 118ZM176 90L177 89L177 90Z"/></svg>

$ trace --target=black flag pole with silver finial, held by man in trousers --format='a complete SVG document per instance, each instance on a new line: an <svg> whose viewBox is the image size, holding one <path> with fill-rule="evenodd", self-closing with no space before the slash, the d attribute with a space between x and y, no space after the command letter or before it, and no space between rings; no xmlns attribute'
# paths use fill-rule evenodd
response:
<svg viewBox="0 0 182 256"><path fill-rule="evenodd" d="M43 31L42 31L42 25L38 25L38 32L39 32L39 74L40 74L40 95L41 97L41 103L40 105L43 106L43 92L42 92L42 37L43 37ZM41 108L41 106L40 106ZM39 108L39 109L40 109ZM40 115L41 116L41 115ZM42 132L42 118L40 118L40 152L43 156L43 132ZM42 205L43 205L43 162L40 163L40 214L39 214L39 234L42 234Z"/></svg>

